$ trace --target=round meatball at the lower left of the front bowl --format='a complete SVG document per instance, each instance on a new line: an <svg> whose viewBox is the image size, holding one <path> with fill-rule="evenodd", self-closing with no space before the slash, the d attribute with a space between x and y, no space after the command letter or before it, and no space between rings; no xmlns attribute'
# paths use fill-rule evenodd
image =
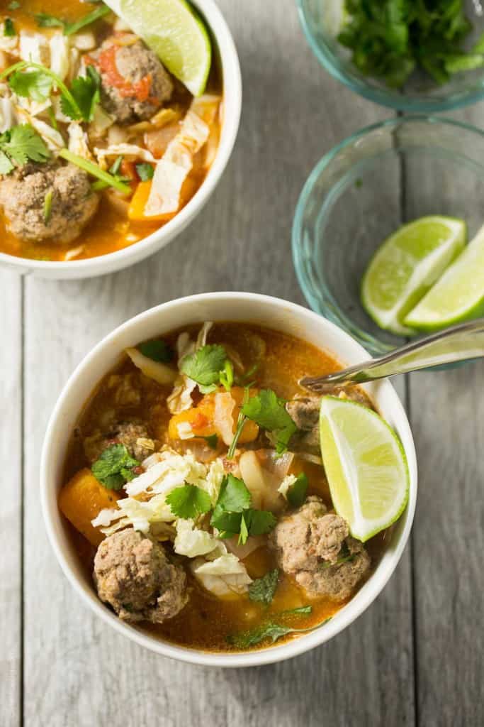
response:
<svg viewBox="0 0 484 727"><path fill-rule="evenodd" d="M161 624L188 601L186 574L163 546L129 528L110 535L94 558L99 598L124 621Z"/></svg>

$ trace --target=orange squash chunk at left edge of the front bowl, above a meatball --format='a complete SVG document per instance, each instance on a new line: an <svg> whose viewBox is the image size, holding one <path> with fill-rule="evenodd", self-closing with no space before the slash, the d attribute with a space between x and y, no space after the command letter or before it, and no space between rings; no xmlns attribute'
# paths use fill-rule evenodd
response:
<svg viewBox="0 0 484 727"><path fill-rule="evenodd" d="M104 535L99 528L91 525L91 520L99 515L104 507L115 507L120 498L114 490L108 490L97 481L91 470L85 467L75 473L59 494L59 507L68 521L92 545L99 545Z"/></svg>

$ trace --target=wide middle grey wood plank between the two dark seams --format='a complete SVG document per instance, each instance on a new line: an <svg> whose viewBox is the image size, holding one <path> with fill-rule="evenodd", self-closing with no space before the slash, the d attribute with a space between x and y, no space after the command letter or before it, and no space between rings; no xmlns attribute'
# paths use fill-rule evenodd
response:
<svg viewBox="0 0 484 727"><path fill-rule="evenodd" d="M412 724L409 553L377 603L311 654L206 670L127 643L81 606L54 563L36 494L46 419L75 364L114 326L195 292L242 289L303 302L290 254L306 175L335 142L387 114L321 71L293 0L221 0L242 61L234 158L195 225L136 268L94 281L29 279L25 389L25 720L39 726Z"/></svg>

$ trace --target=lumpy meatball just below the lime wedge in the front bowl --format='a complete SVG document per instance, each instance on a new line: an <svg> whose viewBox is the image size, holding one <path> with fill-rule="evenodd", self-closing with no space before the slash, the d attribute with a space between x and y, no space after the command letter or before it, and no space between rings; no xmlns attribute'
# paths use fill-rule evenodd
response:
<svg viewBox="0 0 484 727"><path fill-rule="evenodd" d="M271 534L282 570L310 596L348 598L369 569L364 546L349 537L348 523L328 513L319 497L279 521Z"/></svg>

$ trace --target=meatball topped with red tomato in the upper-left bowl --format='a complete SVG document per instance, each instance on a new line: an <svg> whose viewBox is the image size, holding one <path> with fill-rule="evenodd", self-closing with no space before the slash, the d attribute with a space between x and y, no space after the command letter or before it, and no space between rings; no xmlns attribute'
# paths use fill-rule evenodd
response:
<svg viewBox="0 0 484 727"><path fill-rule="evenodd" d="M89 60L101 76L101 103L119 124L150 119L171 98L170 74L141 41L119 45L109 38Z"/></svg>

